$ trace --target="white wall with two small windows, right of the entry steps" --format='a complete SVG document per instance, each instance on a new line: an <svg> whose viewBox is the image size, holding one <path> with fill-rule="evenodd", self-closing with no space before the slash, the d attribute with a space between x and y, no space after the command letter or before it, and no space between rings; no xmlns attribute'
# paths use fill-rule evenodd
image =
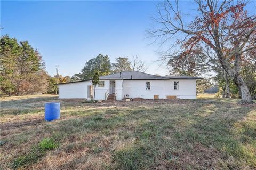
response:
<svg viewBox="0 0 256 170"><path fill-rule="evenodd" d="M174 81L179 81L179 89L174 90ZM150 90L146 90L150 82ZM166 99L167 95L176 95L180 99L196 99L196 80L124 80L123 95L129 98Z"/></svg>

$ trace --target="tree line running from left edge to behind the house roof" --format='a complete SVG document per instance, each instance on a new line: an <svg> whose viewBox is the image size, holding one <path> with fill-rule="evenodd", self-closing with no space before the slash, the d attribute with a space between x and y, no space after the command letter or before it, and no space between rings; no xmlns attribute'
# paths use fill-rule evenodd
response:
<svg viewBox="0 0 256 170"><path fill-rule="evenodd" d="M138 56L116 58L111 63L108 55L99 54L88 60L78 74L70 76L47 74L41 54L28 41L18 41L4 35L0 39L0 95L52 94L58 92L57 83L91 79L126 70L146 71L145 62Z"/></svg>

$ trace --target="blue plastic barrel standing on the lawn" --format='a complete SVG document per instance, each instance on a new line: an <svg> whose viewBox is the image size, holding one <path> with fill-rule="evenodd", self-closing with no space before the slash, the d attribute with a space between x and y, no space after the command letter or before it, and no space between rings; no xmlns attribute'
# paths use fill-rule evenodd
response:
<svg viewBox="0 0 256 170"><path fill-rule="evenodd" d="M60 118L60 103L44 104L44 119L47 121Z"/></svg>

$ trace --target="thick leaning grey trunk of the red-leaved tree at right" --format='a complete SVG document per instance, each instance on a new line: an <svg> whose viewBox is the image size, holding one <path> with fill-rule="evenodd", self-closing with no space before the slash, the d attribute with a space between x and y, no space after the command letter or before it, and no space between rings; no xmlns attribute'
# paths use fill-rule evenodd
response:
<svg viewBox="0 0 256 170"><path fill-rule="evenodd" d="M247 84L244 82L241 75L234 77L234 83L239 88L239 91L241 92L241 98L242 100L239 102L241 104L253 104L251 94L249 92Z"/></svg>

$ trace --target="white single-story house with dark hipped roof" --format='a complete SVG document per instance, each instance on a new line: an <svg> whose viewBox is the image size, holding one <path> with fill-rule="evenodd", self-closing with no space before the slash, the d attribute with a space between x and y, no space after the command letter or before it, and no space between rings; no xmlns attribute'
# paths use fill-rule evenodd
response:
<svg viewBox="0 0 256 170"><path fill-rule="evenodd" d="M190 76L156 76L139 71L123 71L101 76L96 86L95 100L144 99L195 99L196 80ZM91 80L61 83L59 98L84 98L91 100L94 87Z"/></svg>

